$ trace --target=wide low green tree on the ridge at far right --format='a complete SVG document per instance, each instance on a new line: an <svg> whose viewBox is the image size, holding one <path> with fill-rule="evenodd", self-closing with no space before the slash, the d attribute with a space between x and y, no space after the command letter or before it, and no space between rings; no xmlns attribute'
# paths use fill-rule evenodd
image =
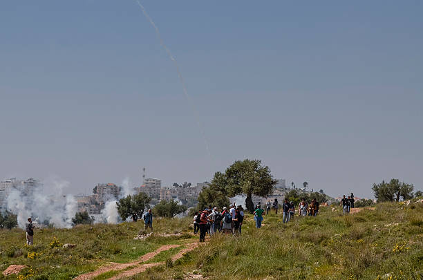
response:
<svg viewBox="0 0 423 280"><path fill-rule="evenodd" d="M400 198L413 198L414 186L392 179L389 183L382 181L380 184L373 184L372 189L377 202L400 201Z"/></svg>

